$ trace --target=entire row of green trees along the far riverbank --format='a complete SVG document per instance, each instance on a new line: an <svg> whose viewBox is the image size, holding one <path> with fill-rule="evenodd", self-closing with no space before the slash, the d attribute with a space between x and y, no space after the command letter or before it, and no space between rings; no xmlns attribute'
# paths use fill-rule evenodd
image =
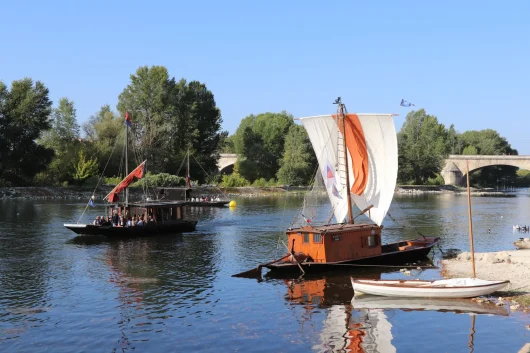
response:
<svg viewBox="0 0 530 353"><path fill-rule="evenodd" d="M143 66L130 76L116 110L103 105L83 126L73 101L61 98L52 106L44 83L24 78L8 88L0 81L0 186L93 185L100 176L115 184L124 172L126 112L133 125L129 170L147 159L152 185L183 184L188 151L191 177L200 183L307 185L316 172L307 133L287 112L251 114L229 136L204 83ZM401 184L443 184L440 171L449 154L517 154L494 130L458 133L424 109L407 114L397 137ZM239 158L234 172L221 177L223 152ZM495 186L530 179L527 174L519 171L518 178L515 167L491 166L471 178L474 185Z"/></svg>

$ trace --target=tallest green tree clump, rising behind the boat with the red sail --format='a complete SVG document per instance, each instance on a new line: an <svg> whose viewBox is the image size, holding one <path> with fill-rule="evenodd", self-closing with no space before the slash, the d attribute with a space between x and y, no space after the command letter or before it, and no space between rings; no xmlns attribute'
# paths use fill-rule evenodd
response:
<svg viewBox="0 0 530 353"><path fill-rule="evenodd" d="M118 110L132 117L138 153L153 172L175 173L187 151L194 179L217 172L221 112L213 93L198 81L176 81L163 66L143 66L119 96Z"/></svg>

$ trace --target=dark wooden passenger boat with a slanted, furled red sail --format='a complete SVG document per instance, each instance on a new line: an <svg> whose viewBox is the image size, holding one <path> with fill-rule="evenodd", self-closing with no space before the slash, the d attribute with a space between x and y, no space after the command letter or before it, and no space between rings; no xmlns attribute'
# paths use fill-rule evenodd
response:
<svg viewBox="0 0 530 353"><path fill-rule="evenodd" d="M130 237L146 236L161 233L181 233L193 232L197 221L183 219L183 206L185 201L150 201L147 196L140 202L129 202L128 186L137 179L141 179L146 173L146 162L140 163L132 172L129 173L128 167L128 127L132 127L129 114L125 114L125 178L112 189L104 200L108 201L105 207L105 213L108 217L117 214L123 217L125 221L136 217L143 219L141 226L123 226L114 224L114 220L102 222L102 224L80 224L66 223L64 227L74 233L84 235L104 235L107 237ZM125 200L119 202L119 194L125 191ZM93 205L94 196L88 205ZM86 211L86 208L85 208ZM84 212L83 212L84 213ZM82 217L82 215L81 215ZM80 217L80 218L81 218Z"/></svg>

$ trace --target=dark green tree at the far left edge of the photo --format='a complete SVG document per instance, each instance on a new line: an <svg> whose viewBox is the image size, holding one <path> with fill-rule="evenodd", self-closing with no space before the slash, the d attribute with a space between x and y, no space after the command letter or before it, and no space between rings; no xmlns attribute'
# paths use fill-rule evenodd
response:
<svg viewBox="0 0 530 353"><path fill-rule="evenodd" d="M36 143L50 126L48 89L30 78L0 81L0 184L24 186L44 170L53 150Z"/></svg>

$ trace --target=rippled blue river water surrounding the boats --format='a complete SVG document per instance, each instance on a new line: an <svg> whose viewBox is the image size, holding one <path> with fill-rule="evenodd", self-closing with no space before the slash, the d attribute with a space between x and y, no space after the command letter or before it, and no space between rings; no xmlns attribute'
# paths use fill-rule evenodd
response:
<svg viewBox="0 0 530 353"><path fill-rule="evenodd" d="M0 201L0 352L517 352L530 342L528 314L508 306L352 302L350 274L399 271L232 278L284 253L278 239L302 201L235 200L188 210L195 233L111 242L63 228L85 202ZM524 192L474 197L475 250L513 249L512 225L530 224L529 206ZM416 229L440 236L442 249L469 247L465 196L396 196L390 213L385 242ZM431 255L437 263L440 251Z"/></svg>

